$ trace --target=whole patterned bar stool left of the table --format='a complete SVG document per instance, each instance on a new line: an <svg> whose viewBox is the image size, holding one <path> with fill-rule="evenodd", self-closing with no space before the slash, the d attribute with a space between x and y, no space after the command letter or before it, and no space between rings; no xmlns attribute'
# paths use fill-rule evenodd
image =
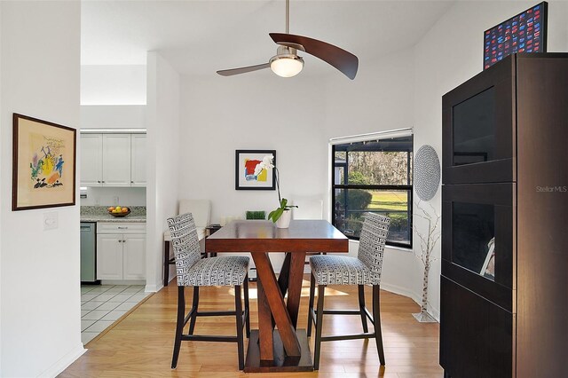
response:
<svg viewBox="0 0 568 378"><path fill-rule="evenodd" d="M177 325L171 368L177 366L182 341L201 341L237 343L239 369L244 369L243 324L246 327L247 337L250 335L248 257L219 256L201 259L199 240L191 213L168 218L168 228L176 258L177 273ZM198 311L200 287L211 286L234 287L235 311ZM185 287L193 287L192 308L187 314L185 314ZM244 311L242 311L241 287L244 289ZM228 315L236 318L236 336L193 335L197 317ZM184 327L188 321L189 330L184 334Z"/></svg>

